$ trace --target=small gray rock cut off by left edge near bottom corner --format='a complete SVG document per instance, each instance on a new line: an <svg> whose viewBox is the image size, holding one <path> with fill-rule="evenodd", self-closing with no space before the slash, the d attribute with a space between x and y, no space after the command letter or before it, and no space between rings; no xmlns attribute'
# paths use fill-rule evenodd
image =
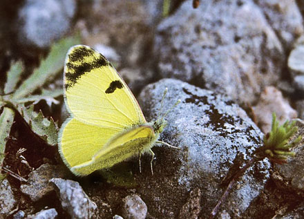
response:
<svg viewBox="0 0 304 219"><path fill-rule="evenodd" d="M17 204L10 182L4 179L0 184L0 218L6 218Z"/></svg>

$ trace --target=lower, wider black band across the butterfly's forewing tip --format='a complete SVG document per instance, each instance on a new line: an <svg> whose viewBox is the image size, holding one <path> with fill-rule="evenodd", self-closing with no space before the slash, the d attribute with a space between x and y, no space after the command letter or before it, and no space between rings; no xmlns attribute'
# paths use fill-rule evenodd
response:
<svg viewBox="0 0 304 219"><path fill-rule="evenodd" d="M95 61L86 62L83 64L74 64L73 62L68 62L66 64L66 90L74 86L74 84L80 77L82 77L82 75L102 66L110 66L110 63L103 55L100 55L100 57L98 59L95 59Z"/></svg>

